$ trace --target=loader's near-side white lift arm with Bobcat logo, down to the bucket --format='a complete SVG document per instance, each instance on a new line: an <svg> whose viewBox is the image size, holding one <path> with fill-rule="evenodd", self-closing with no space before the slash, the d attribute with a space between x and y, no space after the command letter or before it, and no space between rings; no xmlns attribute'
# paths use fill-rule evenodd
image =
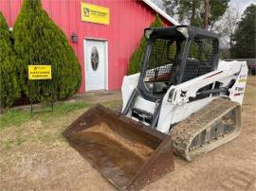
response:
<svg viewBox="0 0 256 191"><path fill-rule="evenodd" d="M217 70L171 86L163 97L156 130L168 133L170 127L219 97L242 105L246 80L246 61L220 61Z"/></svg>

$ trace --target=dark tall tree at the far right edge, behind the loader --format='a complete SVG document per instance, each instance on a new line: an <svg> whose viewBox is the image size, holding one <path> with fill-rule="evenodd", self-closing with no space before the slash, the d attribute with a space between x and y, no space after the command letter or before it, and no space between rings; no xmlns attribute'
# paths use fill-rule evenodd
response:
<svg viewBox="0 0 256 191"><path fill-rule="evenodd" d="M256 5L245 10L235 30L231 46L231 57L237 59L256 58Z"/></svg>

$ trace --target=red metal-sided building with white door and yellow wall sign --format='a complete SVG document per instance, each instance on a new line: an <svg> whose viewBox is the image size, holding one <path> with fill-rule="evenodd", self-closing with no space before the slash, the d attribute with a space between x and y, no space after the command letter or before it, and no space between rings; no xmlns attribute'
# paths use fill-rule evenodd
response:
<svg viewBox="0 0 256 191"><path fill-rule="evenodd" d="M60 26L82 66L80 92L118 90L129 58L155 14L165 26L177 23L149 0L42 0ZM0 0L0 10L13 26L22 0Z"/></svg>

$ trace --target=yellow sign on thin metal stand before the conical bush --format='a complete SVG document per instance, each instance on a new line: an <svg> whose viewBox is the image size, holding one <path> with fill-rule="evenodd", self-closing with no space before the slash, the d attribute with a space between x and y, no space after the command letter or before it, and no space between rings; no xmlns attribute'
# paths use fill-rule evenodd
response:
<svg viewBox="0 0 256 191"><path fill-rule="evenodd" d="M51 79L51 65L28 65L28 79Z"/></svg>

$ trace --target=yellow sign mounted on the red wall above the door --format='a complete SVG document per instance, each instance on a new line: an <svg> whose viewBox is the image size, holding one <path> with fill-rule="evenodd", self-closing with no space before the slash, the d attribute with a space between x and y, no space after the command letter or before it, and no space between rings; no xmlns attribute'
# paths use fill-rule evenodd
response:
<svg viewBox="0 0 256 191"><path fill-rule="evenodd" d="M85 22L109 25L109 9L81 3L81 19Z"/></svg>

